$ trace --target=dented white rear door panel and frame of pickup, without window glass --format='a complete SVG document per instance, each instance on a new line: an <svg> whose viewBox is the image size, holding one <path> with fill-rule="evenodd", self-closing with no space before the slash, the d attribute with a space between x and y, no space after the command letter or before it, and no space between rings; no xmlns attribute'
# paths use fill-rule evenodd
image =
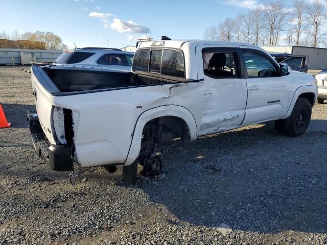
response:
<svg viewBox="0 0 327 245"><path fill-rule="evenodd" d="M200 135L212 134L242 124L247 100L246 80L243 78L212 78L204 74L202 49L196 47L198 78L204 79L204 99L201 115ZM224 45L213 47L226 48ZM230 45L228 46L230 47ZM237 48L238 46L235 46Z"/></svg>

